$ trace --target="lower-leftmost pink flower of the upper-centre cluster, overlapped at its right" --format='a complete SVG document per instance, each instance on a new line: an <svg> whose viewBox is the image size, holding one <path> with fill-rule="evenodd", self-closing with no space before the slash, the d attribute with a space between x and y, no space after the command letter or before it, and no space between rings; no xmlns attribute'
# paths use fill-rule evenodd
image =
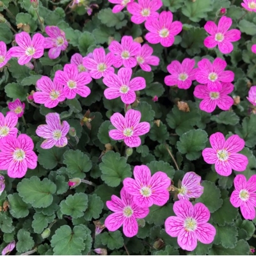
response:
<svg viewBox="0 0 256 256"><path fill-rule="evenodd" d="M35 92L33 98L36 103L44 104L45 108L54 108L59 102L65 100L65 93L63 92L63 85L51 81L47 76L42 76L36 82L36 89L40 92Z"/></svg>

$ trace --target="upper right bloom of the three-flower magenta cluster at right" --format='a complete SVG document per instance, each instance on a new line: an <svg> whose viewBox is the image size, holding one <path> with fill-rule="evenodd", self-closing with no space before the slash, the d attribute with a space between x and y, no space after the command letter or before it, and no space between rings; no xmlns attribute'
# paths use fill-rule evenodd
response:
<svg viewBox="0 0 256 256"><path fill-rule="evenodd" d="M195 78L198 83L207 84L212 92L220 92L223 83L231 83L234 80L234 72L224 69L227 62L221 58L216 58L213 63L208 59L198 61L198 70Z"/></svg>

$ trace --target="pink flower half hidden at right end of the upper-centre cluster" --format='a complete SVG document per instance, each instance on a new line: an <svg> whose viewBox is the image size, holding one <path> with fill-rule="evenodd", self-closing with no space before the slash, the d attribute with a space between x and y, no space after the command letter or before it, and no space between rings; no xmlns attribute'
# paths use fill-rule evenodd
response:
<svg viewBox="0 0 256 256"><path fill-rule="evenodd" d="M141 69L150 72L152 66L159 65L159 58L157 56L152 56L153 48L148 44L144 44L141 46L140 51L137 52L135 58L137 60L138 65L140 65Z"/></svg>

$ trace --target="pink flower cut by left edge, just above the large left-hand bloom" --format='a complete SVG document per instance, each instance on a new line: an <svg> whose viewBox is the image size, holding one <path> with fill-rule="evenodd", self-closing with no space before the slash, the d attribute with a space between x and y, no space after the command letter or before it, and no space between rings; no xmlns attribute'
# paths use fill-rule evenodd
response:
<svg viewBox="0 0 256 256"><path fill-rule="evenodd" d="M6 136L17 136L18 129L15 127L18 122L18 116L9 112L4 115L0 113L0 140Z"/></svg>

